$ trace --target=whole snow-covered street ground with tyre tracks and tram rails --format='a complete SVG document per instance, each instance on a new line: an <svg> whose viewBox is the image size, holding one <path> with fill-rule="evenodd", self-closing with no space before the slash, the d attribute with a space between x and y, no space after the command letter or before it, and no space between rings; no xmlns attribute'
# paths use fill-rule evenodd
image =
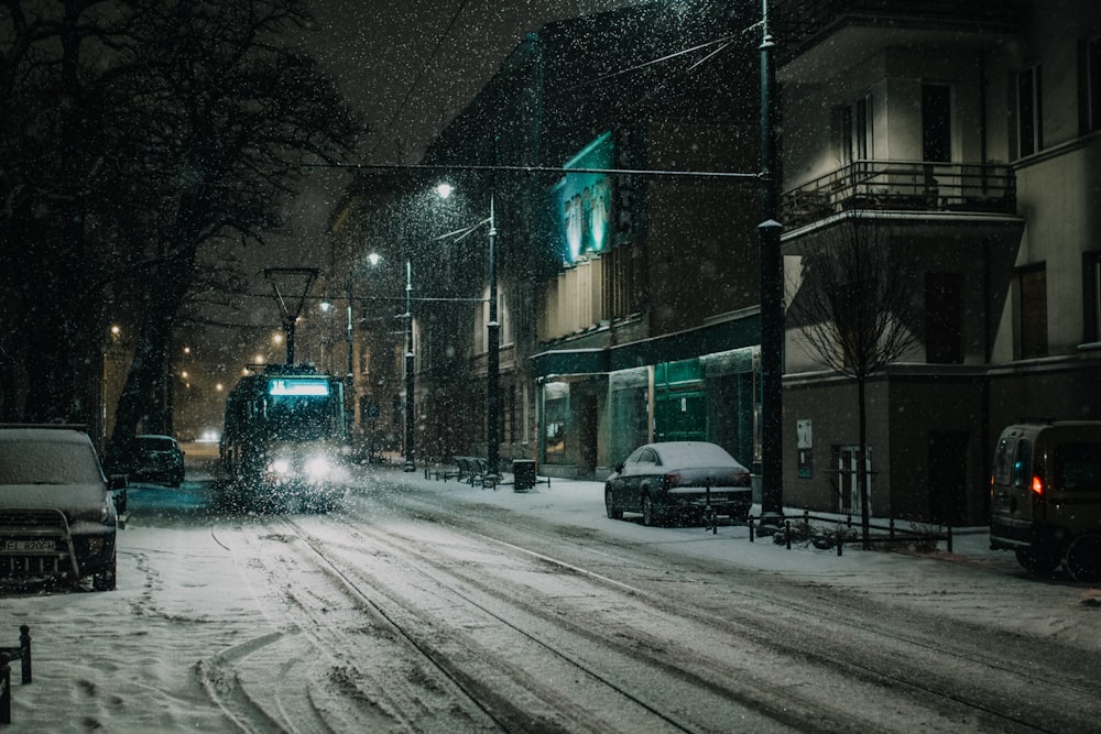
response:
<svg viewBox="0 0 1101 734"><path fill-rule="evenodd" d="M135 490L119 589L4 593L13 732L1098 731L1097 590L981 534L786 550L374 468L328 515ZM4 642L4 637L11 642ZM17 676L18 678L18 676Z"/></svg>

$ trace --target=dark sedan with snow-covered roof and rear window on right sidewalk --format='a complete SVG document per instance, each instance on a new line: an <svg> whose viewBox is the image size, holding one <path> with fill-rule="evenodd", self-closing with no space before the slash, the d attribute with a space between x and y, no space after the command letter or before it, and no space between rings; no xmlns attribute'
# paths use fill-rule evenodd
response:
<svg viewBox="0 0 1101 734"><path fill-rule="evenodd" d="M631 452L604 482L608 516L642 513L661 525L674 513L702 515L707 504L735 521L749 517L750 472L722 447L706 441L646 443Z"/></svg>

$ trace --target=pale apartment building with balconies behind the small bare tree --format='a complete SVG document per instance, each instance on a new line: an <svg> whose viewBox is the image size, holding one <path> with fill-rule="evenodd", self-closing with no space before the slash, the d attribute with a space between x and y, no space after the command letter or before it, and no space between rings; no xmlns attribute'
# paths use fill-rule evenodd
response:
<svg viewBox="0 0 1101 734"><path fill-rule="evenodd" d="M914 306L913 347L866 383L869 508L982 524L1002 425L1101 417L1101 7L776 6L788 300L857 227ZM857 410L789 319L785 503L860 512Z"/></svg>

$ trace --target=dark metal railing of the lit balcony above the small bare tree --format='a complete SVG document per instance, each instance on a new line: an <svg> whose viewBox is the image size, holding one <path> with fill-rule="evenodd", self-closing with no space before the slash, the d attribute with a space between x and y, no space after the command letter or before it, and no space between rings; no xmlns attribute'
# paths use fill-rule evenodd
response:
<svg viewBox="0 0 1101 734"><path fill-rule="evenodd" d="M1015 213L1016 183L1007 165L855 161L786 191L781 209L787 230L850 210Z"/></svg>

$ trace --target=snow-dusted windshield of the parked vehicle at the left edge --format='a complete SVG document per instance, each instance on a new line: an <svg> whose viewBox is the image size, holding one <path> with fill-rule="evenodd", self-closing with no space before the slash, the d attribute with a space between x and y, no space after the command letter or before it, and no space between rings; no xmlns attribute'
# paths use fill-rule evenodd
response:
<svg viewBox="0 0 1101 734"><path fill-rule="evenodd" d="M101 480L90 446L62 441L0 442L0 484L92 484Z"/></svg>

